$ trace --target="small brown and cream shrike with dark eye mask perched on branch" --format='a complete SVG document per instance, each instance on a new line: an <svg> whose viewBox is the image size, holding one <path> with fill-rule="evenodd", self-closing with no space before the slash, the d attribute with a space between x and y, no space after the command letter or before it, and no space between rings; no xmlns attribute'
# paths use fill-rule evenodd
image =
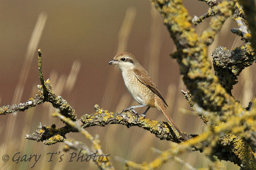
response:
<svg viewBox="0 0 256 170"><path fill-rule="evenodd" d="M134 108L147 106L146 111L142 114L142 116L145 116L148 109L151 107L157 108L163 112L169 122L177 129L181 137L184 138L181 130L177 128L173 119L166 112L166 106L168 105L162 97L162 94L159 92L147 71L139 64L139 61L134 55L126 52L117 54L113 60L109 61L109 64L117 65L121 69L125 87L131 94L132 98L140 104L124 109L124 111L131 109L135 112Z"/></svg>

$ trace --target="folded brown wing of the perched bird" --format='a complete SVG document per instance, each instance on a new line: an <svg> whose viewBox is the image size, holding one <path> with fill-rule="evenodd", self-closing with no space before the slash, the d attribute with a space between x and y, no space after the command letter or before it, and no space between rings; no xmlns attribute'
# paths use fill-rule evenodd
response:
<svg viewBox="0 0 256 170"><path fill-rule="evenodd" d="M140 69L143 69L143 68L140 68ZM146 85L151 91L153 91L156 95L158 95L159 98L161 98L163 100L163 102L165 103L165 105L168 107L166 101L162 97L162 94L157 89L157 87L154 85L154 82L152 81L152 79L150 78L150 76L148 75L148 73L145 69L143 69L142 71L140 71L139 69L135 69L134 74L141 83Z"/></svg>

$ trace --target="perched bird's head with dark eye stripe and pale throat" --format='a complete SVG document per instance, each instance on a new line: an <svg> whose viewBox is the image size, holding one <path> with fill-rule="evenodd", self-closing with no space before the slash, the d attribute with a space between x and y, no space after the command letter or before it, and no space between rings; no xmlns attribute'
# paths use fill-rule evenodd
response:
<svg viewBox="0 0 256 170"><path fill-rule="evenodd" d="M122 71L125 69L134 69L136 65L140 65L137 58L127 52L117 54L113 60L109 61L109 64L117 65Z"/></svg>

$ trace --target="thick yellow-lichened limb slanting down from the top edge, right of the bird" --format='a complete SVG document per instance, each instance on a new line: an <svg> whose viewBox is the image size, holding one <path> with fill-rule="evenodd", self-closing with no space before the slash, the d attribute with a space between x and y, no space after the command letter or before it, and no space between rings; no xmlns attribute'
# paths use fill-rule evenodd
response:
<svg viewBox="0 0 256 170"><path fill-rule="evenodd" d="M241 105L226 93L217 76L212 75L206 53L207 46L197 37L191 23L188 22L189 16L181 0L152 0L152 2L164 17L167 29L176 44L177 52L173 57L177 58L181 74L184 75L184 83L192 95L192 101L202 109L215 112L223 121L229 119L230 114L241 114L238 112ZM232 7L232 2L224 2L228 7ZM228 7L226 10L229 9ZM228 13L231 15L231 11ZM237 106L236 109L233 105Z"/></svg>

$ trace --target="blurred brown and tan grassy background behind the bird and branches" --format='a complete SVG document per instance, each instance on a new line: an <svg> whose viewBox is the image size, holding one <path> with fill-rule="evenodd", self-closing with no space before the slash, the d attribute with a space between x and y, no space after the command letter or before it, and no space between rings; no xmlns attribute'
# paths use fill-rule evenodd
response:
<svg viewBox="0 0 256 170"><path fill-rule="evenodd" d="M208 8L207 4L197 0L184 0L184 5L191 16L200 16L206 13ZM27 79L19 102L25 102L33 97L37 91L37 85L40 84L37 60L37 49L40 48L43 55L45 80L50 78L53 91L69 102L76 110L78 118L83 114L93 113L95 104L111 112L122 111L128 106L136 105L124 87L120 70L108 65L118 50L125 49L138 58L141 65L155 80L158 89L170 105L168 109L170 116L181 131L200 134L205 126L198 116L183 114L180 111L180 109L190 110L190 108L180 92L186 88L179 75L177 62L169 57L175 47L165 25L162 24L161 15L151 6L151 2L147 0L2 0L0 5L0 105L14 104L14 95L17 95L15 89L17 84L22 82L19 77L24 68L28 44L38 17L43 12L43 16L47 17L45 27L39 45L34 48L31 66L27 69ZM130 13L127 13L127 10ZM125 34L128 36L127 41L121 48L118 37L125 23L124 18L130 18L128 20L130 24L128 23L126 27L131 26L131 30ZM201 25L195 27L198 34L207 27L208 22L209 19L206 19ZM230 33L230 28L236 27L232 19L226 21L215 43L209 47L210 59L211 51L219 45L232 49L243 44L239 37ZM154 42L154 40L157 41ZM157 56L153 55L153 58L149 59L152 53ZM70 90L66 88L65 82L70 81L68 75L74 62L73 69L76 69L78 74L77 79L72 80L75 84ZM245 105L256 92L253 86L255 83L253 71L255 71L254 65L245 69L239 77L239 83L232 91L236 100ZM137 111L142 113L145 109L137 109ZM53 112L51 105L44 103L28 111L18 112L15 117L12 114L1 116L0 156L8 154L11 157L15 152L21 152L20 156L25 153L41 154L41 159L35 164L34 169L39 167L95 169L96 166L92 161L68 162L69 152L61 152L65 154L65 160L62 162L58 162L57 158L48 162L47 152L58 152L64 144L45 146L41 142L24 139L25 134L35 132L40 122L47 126L55 123L57 128L62 127L64 124L51 116ZM147 118L167 121L157 109L150 109ZM93 136L99 134L102 150L105 154L110 154L116 169L123 168L123 164L115 160L115 156L136 163L150 162L158 156L151 151L151 147L160 150L169 148L169 141L160 141L153 134L138 127L127 129L122 125L107 125L90 127L87 130ZM91 145L82 134L68 134L67 137ZM199 152L188 152L183 154L181 159L196 168L210 163ZM8 162L0 160L0 165L5 168L28 169L34 163L31 162L16 164L11 160ZM233 163L223 163L227 169L238 169ZM181 164L174 161L169 161L162 166L162 169L183 168Z"/></svg>

